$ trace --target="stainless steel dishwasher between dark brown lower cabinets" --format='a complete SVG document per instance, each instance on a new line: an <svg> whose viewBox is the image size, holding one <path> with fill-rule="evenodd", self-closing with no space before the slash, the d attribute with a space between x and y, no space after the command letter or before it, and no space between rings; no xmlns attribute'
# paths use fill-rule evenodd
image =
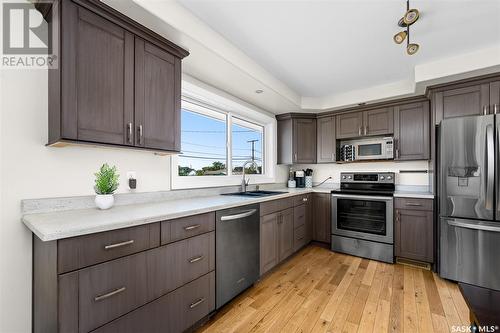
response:
<svg viewBox="0 0 500 333"><path fill-rule="evenodd" d="M215 226L216 307L259 278L259 205L217 211Z"/></svg>

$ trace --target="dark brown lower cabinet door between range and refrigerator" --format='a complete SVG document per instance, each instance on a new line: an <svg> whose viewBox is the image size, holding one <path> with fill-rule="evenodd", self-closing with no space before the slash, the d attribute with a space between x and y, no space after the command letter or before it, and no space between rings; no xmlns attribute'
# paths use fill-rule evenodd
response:
<svg viewBox="0 0 500 333"><path fill-rule="evenodd" d="M396 210L396 256L433 262L432 211Z"/></svg>

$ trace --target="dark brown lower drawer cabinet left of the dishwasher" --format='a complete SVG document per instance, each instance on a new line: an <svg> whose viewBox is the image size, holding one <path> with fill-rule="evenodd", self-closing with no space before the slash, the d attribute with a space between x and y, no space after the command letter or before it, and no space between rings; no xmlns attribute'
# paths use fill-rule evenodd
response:
<svg viewBox="0 0 500 333"><path fill-rule="evenodd" d="M34 236L33 332L186 330L215 309L215 232L176 230L213 230L211 219L207 213L52 242ZM159 246L160 225L169 227L164 236L184 239ZM65 249L75 265L63 266L73 270L61 274L58 261L71 259L60 253Z"/></svg>

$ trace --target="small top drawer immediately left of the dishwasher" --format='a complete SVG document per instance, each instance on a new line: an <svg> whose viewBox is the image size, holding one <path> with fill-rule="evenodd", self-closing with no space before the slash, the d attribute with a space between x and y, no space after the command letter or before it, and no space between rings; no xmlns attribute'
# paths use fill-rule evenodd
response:
<svg viewBox="0 0 500 333"><path fill-rule="evenodd" d="M165 221L161 223L161 244L168 244L213 230L215 230L215 212Z"/></svg>

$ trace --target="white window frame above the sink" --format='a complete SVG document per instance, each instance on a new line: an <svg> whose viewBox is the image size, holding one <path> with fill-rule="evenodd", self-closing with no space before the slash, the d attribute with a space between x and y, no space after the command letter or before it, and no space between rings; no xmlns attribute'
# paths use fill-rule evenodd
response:
<svg viewBox="0 0 500 333"><path fill-rule="evenodd" d="M181 107L183 109L193 111L200 114L205 114L217 119L226 117L228 129L227 135L227 176L179 176L178 163L179 157L173 155L171 157L171 188L172 189L189 189L189 188L205 188L219 186L240 185L242 181L241 175L232 174L232 146L231 146L231 128L233 117L240 119L245 123L245 126L254 124L257 128L263 129L262 137L262 171L263 174L246 175L250 184L265 184L274 183L276 178L276 120L274 117L226 97L217 95L213 92L194 87L192 84L183 81L183 88L188 86L191 89L183 89ZM200 96L200 92L203 93ZM222 118L221 118L222 115ZM181 146L182 150L182 146Z"/></svg>

